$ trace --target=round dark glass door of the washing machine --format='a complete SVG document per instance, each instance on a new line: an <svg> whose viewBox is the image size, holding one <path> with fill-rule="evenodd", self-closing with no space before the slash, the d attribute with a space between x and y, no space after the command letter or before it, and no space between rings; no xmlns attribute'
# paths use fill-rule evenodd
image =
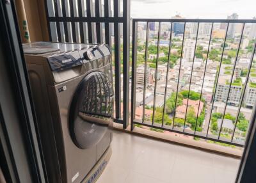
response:
<svg viewBox="0 0 256 183"><path fill-rule="evenodd" d="M77 87L70 106L70 135L77 147L99 143L108 131L112 113L113 83L103 72L91 72Z"/></svg>

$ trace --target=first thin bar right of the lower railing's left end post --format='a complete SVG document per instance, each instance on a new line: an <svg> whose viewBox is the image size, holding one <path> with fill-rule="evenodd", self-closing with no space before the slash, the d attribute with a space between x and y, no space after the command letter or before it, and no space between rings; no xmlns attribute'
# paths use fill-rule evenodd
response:
<svg viewBox="0 0 256 183"><path fill-rule="evenodd" d="M142 109L142 122L145 121L145 98L146 98L146 85L147 85L147 60L148 60L148 22L147 22L147 32L146 32L146 45L145 45L145 64L144 64L144 83L143 83L143 109ZM137 50L136 50L137 52Z"/></svg>

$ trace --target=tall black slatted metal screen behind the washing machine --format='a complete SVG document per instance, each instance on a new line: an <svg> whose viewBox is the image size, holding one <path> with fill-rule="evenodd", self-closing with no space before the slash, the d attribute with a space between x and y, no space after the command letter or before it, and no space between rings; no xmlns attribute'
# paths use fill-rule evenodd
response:
<svg viewBox="0 0 256 183"><path fill-rule="evenodd" d="M82 0L81 0L82 1ZM129 43L130 43L130 1L123 1L123 15L121 17L120 12L120 0L114 1L113 10L114 16L111 17L111 2L110 0L95 0L95 8L93 8L92 0L84 0L82 3L86 4L86 15L83 15L85 12L84 7L81 6L81 1L77 1L77 10L74 7L74 3L76 1L69 0L69 13L66 13L66 7L68 4L65 4L65 1L61 1L62 13L58 12L58 4L60 1L54 1L56 3L52 4L47 3L49 1L45 0L46 4L46 14L47 14L47 24L49 29L49 37L52 42L61 42L61 40L65 40L65 42L80 42L86 43L86 39L84 38L84 32L88 33L88 43L103 43L103 26L105 26L105 42L109 45L111 49L111 24L114 24L113 35L115 39L115 122L122 123L124 129L127 127L129 123ZM104 17L102 15L102 6L101 1L104 1ZM61 8L60 8L61 9ZM50 16L49 12L54 10L54 15ZM76 15L75 15L76 14ZM85 13L84 13L85 14ZM52 15L52 13L51 13ZM95 16L94 16L95 15ZM51 28L51 23L56 24L56 28ZM68 33L68 22L70 22L71 26L69 29L71 33ZM88 25L87 29L84 30L83 24L86 23ZM63 24L63 28L61 27ZM93 24L96 24L94 27ZM78 26L79 25L79 26ZM121 53L120 53L120 35L121 35L121 26L123 25L123 91L124 91L124 102L123 102L123 117L121 114ZM79 31L78 31L79 29ZM55 36L56 35L56 36ZM80 40L77 40L79 38ZM97 40L97 41L95 41Z"/></svg>

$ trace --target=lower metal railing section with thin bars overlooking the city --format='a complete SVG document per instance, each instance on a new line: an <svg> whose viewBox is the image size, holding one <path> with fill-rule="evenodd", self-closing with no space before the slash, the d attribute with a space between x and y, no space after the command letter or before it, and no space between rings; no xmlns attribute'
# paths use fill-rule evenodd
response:
<svg viewBox="0 0 256 183"><path fill-rule="evenodd" d="M244 146L256 100L256 20L133 19L134 125Z"/></svg>

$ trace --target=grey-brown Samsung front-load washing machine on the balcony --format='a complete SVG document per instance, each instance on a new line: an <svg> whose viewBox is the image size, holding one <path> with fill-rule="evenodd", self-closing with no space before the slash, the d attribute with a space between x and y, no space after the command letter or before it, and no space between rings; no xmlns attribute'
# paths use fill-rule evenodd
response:
<svg viewBox="0 0 256 183"><path fill-rule="evenodd" d="M23 49L48 182L95 182L111 156L108 45L34 42Z"/></svg>

